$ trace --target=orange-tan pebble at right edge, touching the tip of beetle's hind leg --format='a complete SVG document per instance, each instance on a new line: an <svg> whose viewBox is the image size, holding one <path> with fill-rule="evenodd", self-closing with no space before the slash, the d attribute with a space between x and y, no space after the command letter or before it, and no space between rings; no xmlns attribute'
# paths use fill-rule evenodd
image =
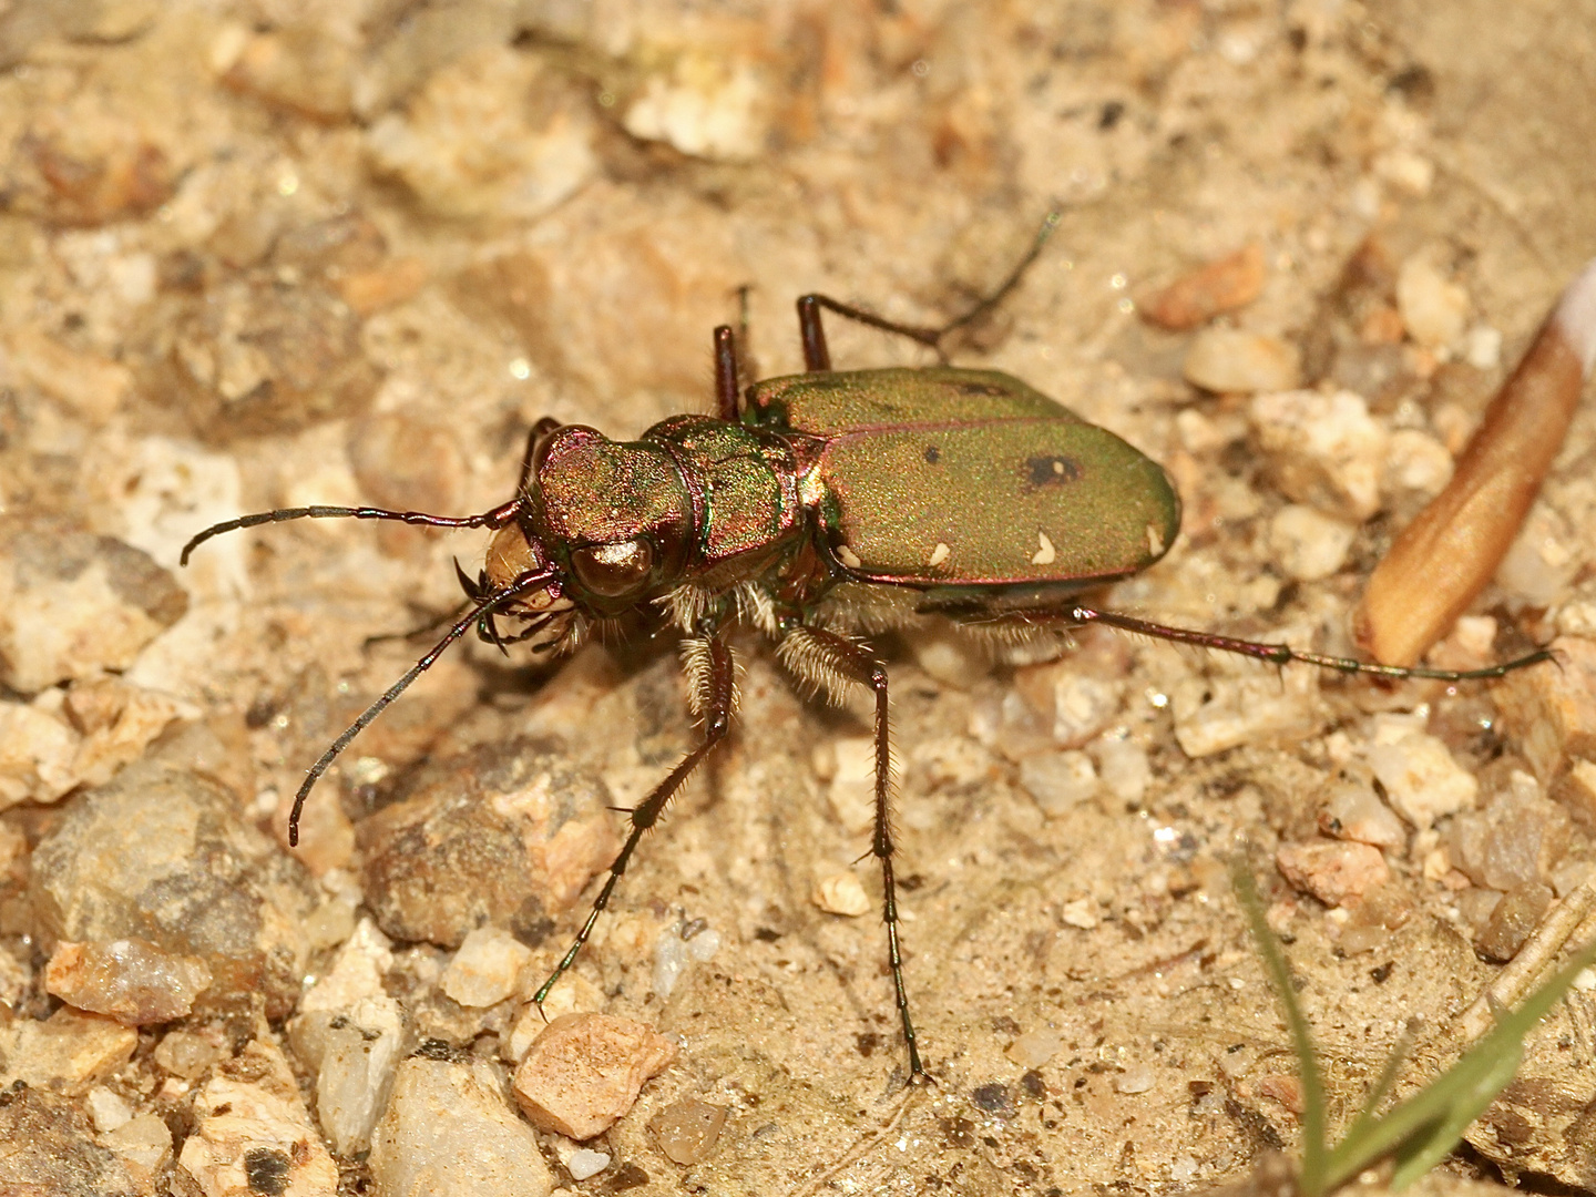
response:
<svg viewBox="0 0 1596 1197"><path fill-rule="evenodd" d="M1502 723L1542 782L1596 758L1596 638L1559 637L1553 667L1508 674L1492 688Z"/></svg>

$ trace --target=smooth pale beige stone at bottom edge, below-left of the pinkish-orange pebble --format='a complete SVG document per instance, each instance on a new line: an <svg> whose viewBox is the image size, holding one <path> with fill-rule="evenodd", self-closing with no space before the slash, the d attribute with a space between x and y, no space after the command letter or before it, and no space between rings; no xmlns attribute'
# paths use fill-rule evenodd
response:
<svg viewBox="0 0 1596 1197"><path fill-rule="evenodd" d="M447 1050L399 1065L372 1136L372 1178L385 1197L547 1197L554 1173L485 1060Z"/></svg>

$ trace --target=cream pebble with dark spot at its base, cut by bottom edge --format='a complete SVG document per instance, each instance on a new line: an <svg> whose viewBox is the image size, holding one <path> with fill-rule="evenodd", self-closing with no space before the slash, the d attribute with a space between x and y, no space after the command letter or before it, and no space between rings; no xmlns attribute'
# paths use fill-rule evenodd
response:
<svg viewBox="0 0 1596 1197"><path fill-rule="evenodd" d="M321 1143L282 1052L254 1039L204 1082L198 1125L177 1157L207 1197L334 1197L338 1165Z"/></svg>

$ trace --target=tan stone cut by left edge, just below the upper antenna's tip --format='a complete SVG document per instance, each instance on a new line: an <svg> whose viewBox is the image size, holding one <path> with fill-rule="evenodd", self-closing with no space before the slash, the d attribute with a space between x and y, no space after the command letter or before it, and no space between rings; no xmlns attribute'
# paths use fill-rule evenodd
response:
<svg viewBox="0 0 1596 1197"><path fill-rule="evenodd" d="M11 689L128 669L187 610L144 551L53 516L0 516L0 683Z"/></svg>

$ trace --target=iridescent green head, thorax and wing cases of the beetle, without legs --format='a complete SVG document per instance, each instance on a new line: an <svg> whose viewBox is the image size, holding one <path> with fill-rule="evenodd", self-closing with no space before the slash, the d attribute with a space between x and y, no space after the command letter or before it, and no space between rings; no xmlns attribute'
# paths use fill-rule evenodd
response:
<svg viewBox="0 0 1596 1197"><path fill-rule="evenodd" d="M844 581L926 591L932 608L1100 584L1162 557L1181 511L1112 433L953 367L771 378L741 423L678 415L632 442L560 428L536 479L528 531L555 552L645 536L653 597L753 583L800 606Z"/></svg>

